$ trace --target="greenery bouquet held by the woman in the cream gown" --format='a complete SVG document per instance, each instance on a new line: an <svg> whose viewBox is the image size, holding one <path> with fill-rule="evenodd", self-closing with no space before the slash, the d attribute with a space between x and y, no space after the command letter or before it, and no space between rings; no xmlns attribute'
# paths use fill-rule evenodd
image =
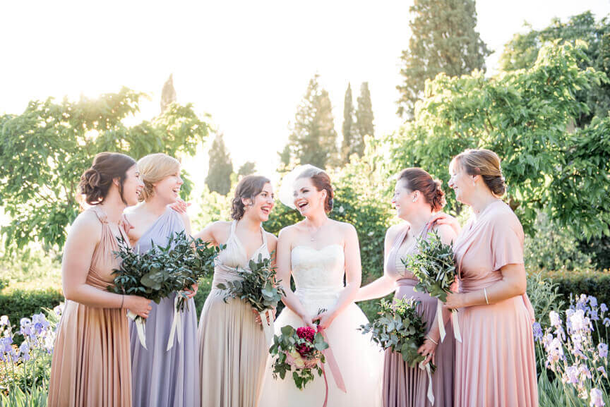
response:
<svg viewBox="0 0 610 407"><path fill-rule="evenodd" d="M261 324L265 332L268 344L273 341L273 312L277 303L282 300L284 289L277 280L276 270L270 258L258 255L258 260L250 260L250 270L238 269L240 279L228 281L227 284L217 284L217 288L226 290L225 302L229 298L239 298L250 303L258 315L261 316Z"/></svg>

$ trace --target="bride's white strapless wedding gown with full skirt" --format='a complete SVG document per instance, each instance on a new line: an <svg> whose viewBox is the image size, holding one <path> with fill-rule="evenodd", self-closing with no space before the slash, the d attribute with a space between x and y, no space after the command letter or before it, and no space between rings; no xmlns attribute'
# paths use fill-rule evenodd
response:
<svg viewBox="0 0 610 407"><path fill-rule="evenodd" d="M292 249L292 276L297 286L297 297L309 315L315 316L322 308L335 305L344 288L345 254L341 245L328 245L321 250L299 245ZM335 355L347 394L335 384L328 363L325 365L328 379L328 407L378 407L381 406L381 379L383 375L383 351L371 342L369 334L357 330L368 323L364 312L350 304L326 329L328 344ZM286 325L304 326L303 321L289 308L284 308L275 321L275 334ZM322 406L325 394L324 378L314 373L313 382L305 389L295 386L292 375L285 379L273 379L269 358L259 407L313 407Z"/></svg>

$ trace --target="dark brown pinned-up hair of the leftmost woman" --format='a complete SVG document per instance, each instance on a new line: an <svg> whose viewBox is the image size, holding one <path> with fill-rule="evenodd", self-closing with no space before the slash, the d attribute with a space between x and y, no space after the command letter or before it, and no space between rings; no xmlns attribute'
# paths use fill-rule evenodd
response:
<svg viewBox="0 0 610 407"><path fill-rule="evenodd" d="M128 155L118 152L100 152L93 159L93 164L80 176L80 193L85 195L85 202L89 205L98 205L104 202L108 195L112 180L119 178L119 194L123 198L123 184L127 171L136 165L136 160Z"/></svg>

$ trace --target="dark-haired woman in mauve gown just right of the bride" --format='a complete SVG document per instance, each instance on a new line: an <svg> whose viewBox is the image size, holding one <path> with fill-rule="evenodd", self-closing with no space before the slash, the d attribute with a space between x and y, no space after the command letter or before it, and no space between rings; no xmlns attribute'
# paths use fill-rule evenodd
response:
<svg viewBox="0 0 610 407"><path fill-rule="evenodd" d="M417 253L417 241L427 238L436 230L444 243L455 239L455 232L448 225L433 224L435 212L445 206L445 193L441 181L435 181L423 169L408 168L398 176L392 204L402 223L391 226L385 233L385 267L383 277L368 286L361 287L357 301L381 298L395 291L395 298L414 298L419 301L417 310L426 320L428 334L419 353L436 365L432 376L435 407L453 407L453 329L447 325L447 336L440 343L436 317L438 301L427 293L414 291L417 277L405 268L402 259ZM448 312L445 312L448 320ZM383 406L420 407L431 406L426 394L428 376L419 367L409 367L400 353L385 351L383 367Z"/></svg>

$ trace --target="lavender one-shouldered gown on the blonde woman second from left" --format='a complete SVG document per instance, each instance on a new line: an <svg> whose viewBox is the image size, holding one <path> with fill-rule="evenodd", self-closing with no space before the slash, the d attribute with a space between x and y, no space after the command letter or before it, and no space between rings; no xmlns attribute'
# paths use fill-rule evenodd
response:
<svg viewBox="0 0 610 407"><path fill-rule="evenodd" d="M145 231L136 244L138 253L157 245L167 245L175 232L184 231L184 222L172 209L166 211ZM166 351L169 331L174 321L174 298L164 298L146 319L146 347L138 339L136 323L129 322L131 339L131 377L133 407L182 407L199 404L199 344L197 339L197 312L193 298L181 313L182 340L177 334L174 346Z"/></svg>

